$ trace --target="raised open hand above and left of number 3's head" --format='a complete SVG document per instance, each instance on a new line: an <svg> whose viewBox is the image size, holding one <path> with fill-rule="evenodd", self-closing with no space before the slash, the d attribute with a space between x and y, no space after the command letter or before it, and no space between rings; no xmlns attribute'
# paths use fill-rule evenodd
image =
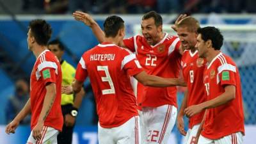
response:
<svg viewBox="0 0 256 144"><path fill-rule="evenodd" d="M76 11L73 13L73 17L76 20L84 22L84 24L86 24L86 26L92 27L92 25L96 23L95 20L92 19L92 16L89 15L88 13Z"/></svg>

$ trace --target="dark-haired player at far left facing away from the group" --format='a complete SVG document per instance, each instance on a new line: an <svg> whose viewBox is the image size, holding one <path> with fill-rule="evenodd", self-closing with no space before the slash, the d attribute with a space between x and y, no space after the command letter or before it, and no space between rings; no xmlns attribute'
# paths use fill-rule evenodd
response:
<svg viewBox="0 0 256 144"><path fill-rule="evenodd" d="M36 57L30 77L30 98L20 113L6 126L14 133L19 122L31 112L28 144L54 143L63 125L61 115L61 66L58 58L47 50L52 29L45 20L29 22L28 48Z"/></svg>

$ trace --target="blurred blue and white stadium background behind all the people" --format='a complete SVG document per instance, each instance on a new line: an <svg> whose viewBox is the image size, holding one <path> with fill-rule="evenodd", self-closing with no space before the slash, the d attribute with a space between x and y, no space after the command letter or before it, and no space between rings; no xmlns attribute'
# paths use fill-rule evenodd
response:
<svg viewBox="0 0 256 144"><path fill-rule="evenodd" d="M140 33L140 20L149 10L163 13L164 31L179 13L196 17L202 26L221 29L225 36L222 50L236 61L243 86L246 136L244 143L253 144L256 135L256 1L254 0L0 0L0 143L26 143L29 125L22 125L15 134L4 133L6 102L13 95L15 81L29 78L35 56L26 42L28 22L45 19L52 26L53 38L60 38L67 49L63 59L76 67L84 51L97 44L90 28L72 18L74 10L91 13L102 26L108 15L118 14L125 20L127 37ZM175 33L173 33L175 35ZM97 116L90 81L84 84L86 97L79 109L74 144L97 143ZM182 100L182 89L178 102ZM8 114L7 114L8 115ZM180 144L183 137L174 127L170 143Z"/></svg>

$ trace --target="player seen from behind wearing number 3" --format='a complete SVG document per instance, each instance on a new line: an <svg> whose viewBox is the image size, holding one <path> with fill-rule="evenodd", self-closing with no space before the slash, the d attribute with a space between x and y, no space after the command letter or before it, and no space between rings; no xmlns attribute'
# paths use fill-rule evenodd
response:
<svg viewBox="0 0 256 144"><path fill-rule="evenodd" d="M117 46L125 35L124 20L120 17L108 17L104 33L104 42L84 52L79 61L73 90L79 92L84 79L90 77L99 115L100 144L137 144L140 126L130 76L146 86L159 87L173 86L179 79L148 75L135 54Z"/></svg>

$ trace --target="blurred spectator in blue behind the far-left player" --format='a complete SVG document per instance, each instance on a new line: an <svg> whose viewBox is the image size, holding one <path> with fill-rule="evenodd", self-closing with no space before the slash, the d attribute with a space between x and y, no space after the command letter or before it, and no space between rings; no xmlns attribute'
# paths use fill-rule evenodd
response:
<svg viewBox="0 0 256 144"><path fill-rule="evenodd" d="M13 118L20 112L29 99L29 86L25 79L18 79L15 83L14 95L8 99L6 104L6 124L12 122ZM30 124L31 115L26 116L24 120L20 122L23 125Z"/></svg>

